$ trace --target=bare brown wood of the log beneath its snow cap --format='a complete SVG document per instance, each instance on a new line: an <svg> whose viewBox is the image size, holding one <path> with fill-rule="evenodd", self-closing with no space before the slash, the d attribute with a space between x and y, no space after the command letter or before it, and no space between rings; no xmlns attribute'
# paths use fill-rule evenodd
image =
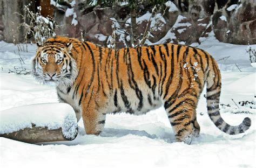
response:
<svg viewBox="0 0 256 168"><path fill-rule="evenodd" d="M0 137L14 139L16 141L26 143L40 143L40 142L53 142L53 141L72 141L76 138L78 128L76 129L75 136L66 138L63 135L62 128L49 130L47 127L36 127L32 124L32 128L24 128L15 132L0 134Z"/></svg>

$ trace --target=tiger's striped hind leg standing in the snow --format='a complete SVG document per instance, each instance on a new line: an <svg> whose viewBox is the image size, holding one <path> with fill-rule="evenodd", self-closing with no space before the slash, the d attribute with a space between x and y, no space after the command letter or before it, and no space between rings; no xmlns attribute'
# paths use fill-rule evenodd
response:
<svg viewBox="0 0 256 168"><path fill-rule="evenodd" d="M172 125L177 142L191 144L199 136L200 126L197 122L195 96L185 96L165 102L165 110Z"/></svg>

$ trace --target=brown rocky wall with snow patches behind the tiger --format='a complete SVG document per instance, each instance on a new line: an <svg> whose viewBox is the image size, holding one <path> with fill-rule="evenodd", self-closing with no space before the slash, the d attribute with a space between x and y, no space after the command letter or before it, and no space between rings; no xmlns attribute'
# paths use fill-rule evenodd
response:
<svg viewBox="0 0 256 168"><path fill-rule="evenodd" d="M12 42L14 36L17 41L23 40L22 30L17 29L17 24L14 25L21 19L14 17L12 12L21 12L20 6L29 2L21 0L10 5L10 1L0 0L0 40ZM107 46L115 25L116 47L129 46L127 32L130 30L129 25L125 24L129 22L127 6L116 4L100 8L86 5L83 0L63 2L51 5L53 17L60 25L56 34ZM161 18L153 16L155 20L151 20L152 24L160 24L151 30L147 44L170 41L187 45L200 43L200 38L207 37L211 31L225 43L256 44L256 0L174 0L166 3L166 6L169 8ZM142 36L145 32L149 20L143 18L152 8L146 3L138 5L136 36ZM163 13L163 9L158 12Z"/></svg>

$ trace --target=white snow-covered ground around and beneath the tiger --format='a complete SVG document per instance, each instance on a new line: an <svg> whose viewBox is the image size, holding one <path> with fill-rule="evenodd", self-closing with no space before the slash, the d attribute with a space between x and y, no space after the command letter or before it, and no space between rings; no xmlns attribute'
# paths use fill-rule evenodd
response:
<svg viewBox="0 0 256 168"><path fill-rule="evenodd" d="M244 134L230 136L211 122L206 111L205 90L200 97L197 118L200 136L191 145L174 141L174 134L164 108L143 116L107 115L100 136L86 135L83 121L71 142L27 144L0 137L0 167L255 167L255 109L241 107L239 101L252 101L255 90L255 68L250 66L246 45L219 43L214 37L193 44L203 48L218 61L223 76L221 115L227 123L238 125L244 117L252 120ZM252 45L256 49L256 45ZM35 45L17 46L0 41L0 110L58 102L54 86L43 86L30 75L8 73L14 66L30 68ZM22 63L23 64L23 63ZM241 69L239 71L237 66ZM239 108L232 101L238 104ZM36 109L35 109L36 110ZM234 112L248 112L235 114ZM0 116L0 122L2 117Z"/></svg>

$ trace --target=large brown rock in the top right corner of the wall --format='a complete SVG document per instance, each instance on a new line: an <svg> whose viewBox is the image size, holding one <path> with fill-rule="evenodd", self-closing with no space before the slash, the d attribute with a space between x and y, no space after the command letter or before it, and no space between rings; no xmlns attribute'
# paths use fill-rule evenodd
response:
<svg viewBox="0 0 256 168"><path fill-rule="evenodd" d="M242 0L237 4L219 2L218 8L212 18L213 30L218 40L233 44L255 44L256 4L253 0ZM221 16L226 21L220 19Z"/></svg>

